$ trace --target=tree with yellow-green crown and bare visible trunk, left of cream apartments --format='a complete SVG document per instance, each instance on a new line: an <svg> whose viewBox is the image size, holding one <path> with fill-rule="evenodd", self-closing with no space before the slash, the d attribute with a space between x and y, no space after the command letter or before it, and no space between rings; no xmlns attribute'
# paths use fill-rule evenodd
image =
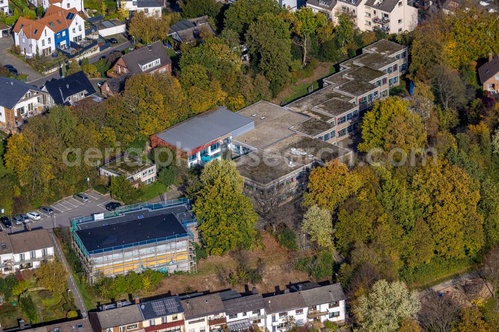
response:
<svg viewBox="0 0 499 332"><path fill-rule="evenodd" d="M301 65L305 66L307 50L310 47L310 36L315 34L317 29L326 26L327 19L324 14L320 12L314 13L312 8L308 7L301 7L294 11L293 15L293 29L296 35L299 36L297 44L301 46L303 50Z"/></svg>

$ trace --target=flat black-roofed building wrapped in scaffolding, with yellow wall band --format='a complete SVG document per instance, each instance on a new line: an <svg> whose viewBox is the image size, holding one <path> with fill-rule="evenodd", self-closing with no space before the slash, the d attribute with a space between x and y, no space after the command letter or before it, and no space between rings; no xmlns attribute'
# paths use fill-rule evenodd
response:
<svg viewBox="0 0 499 332"><path fill-rule="evenodd" d="M115 277L153 269L164 273L196 270L197 221L188 199L142 203L71 221L72 244L87 274Z"/></svg>

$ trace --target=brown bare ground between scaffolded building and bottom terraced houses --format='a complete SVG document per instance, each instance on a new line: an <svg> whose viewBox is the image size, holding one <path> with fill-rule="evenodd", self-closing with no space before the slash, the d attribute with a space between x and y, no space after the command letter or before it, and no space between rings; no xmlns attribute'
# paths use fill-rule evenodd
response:
<svg viewBox="0 0 499 332"><path fill-rule="evenodd" d="M262 232L263 249L245 252L251 267L256 266L258 258L262 258L264 268L262 282L254 285L259 293L275 291L276 287L281 290L290 283L306 281L308 277L305 273L296 271L292 262L295 256L307 255L306 252L291 252L279 247L273 237L267 232ZM221 279L221 275L235 270L236 260L230 255L222 257L209 257L198 264L198 273L193 275L177 275L165 278L154 294L182 294L198 291L221 291L232 288L230 284ZM248 286L249 290L253 285ZM240 292L248 291L245 286L238 286ZM149 295L153 296L153 295Z"/></svg>

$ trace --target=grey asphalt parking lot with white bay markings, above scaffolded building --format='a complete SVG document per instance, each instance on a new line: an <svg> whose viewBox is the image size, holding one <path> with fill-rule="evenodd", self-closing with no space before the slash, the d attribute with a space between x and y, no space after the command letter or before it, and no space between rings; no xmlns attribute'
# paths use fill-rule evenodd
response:
<svg viewBox="0 0 499 332"><path fill-rule="evenodd" d="M53 214L47 214L43 211L35 210L41 216L38 220L30 220L29 224L35 228L53 228L69 226L71 219L77 216L90 215L106 211L105 205L111 201L109 194L102 195L94 190L85 192L88 197L87 202L81 202L73 197L66 197L50 205L53 209ZM29 211L26 211L29 212ZM8 229L9 232L18 232L26 229L27 225L14 225ZM0 224L0 228L5 230L5 226Z"/></svg>

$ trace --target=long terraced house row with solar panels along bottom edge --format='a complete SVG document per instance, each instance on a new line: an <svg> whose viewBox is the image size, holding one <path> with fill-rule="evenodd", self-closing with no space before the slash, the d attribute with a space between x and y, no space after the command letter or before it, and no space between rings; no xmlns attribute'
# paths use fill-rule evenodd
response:
<svg viewBox="0 0 499 332"><path fill-rule="evenodd" d="M243 296L235 290L103 305L89 314L94 332L282 332L292 326L345 321L340 284L305 283L279 294Z"/></svg>

